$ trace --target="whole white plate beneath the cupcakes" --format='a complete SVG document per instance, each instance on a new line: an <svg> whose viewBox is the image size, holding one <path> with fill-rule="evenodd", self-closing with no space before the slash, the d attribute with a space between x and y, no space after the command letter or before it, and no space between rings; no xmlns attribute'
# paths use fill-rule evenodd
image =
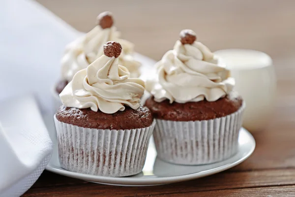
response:
<svg viewBox="0 0 295 197"><path fill-rule="evenodd" d="M45 123L54 142L52 158L45 169L64 176L82 179L89 182L120 185L120 186L149 186L176 183L191 179L201 178L229 169L246 160L255 149L255 140L249 131L241 129L238 138L238 153L223 162L207 165L176 165L163 162L156 158L153 140L148 146L146 164L141 173L129 177L104 177L70 172L60 167L58 147L53 117L45 117Z"/></svg>

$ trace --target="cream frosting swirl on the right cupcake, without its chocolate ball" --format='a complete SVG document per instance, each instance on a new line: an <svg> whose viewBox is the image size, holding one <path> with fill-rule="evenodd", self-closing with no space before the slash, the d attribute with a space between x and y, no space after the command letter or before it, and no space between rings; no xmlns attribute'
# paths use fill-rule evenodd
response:
<svg viewBox="0 0 295 197"><path fill-rule="evenodd" d="M169 99L185 103L215 101L225 97L235 86L230 72L201 42L182 44L177 40L156 64L158 80L148 80L146 89L154 100Z"/></svg>

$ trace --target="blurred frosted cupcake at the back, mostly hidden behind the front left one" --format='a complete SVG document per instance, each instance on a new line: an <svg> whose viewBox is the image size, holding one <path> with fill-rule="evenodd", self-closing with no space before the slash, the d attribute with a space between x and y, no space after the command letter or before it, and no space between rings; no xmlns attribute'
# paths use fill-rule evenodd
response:
<svg viewBox="0 0 295 197"><path fill-rule="evenodd" d="M141 63L133 57L134 44L121 39L120 33L113 24L112 13L103 12L98 15L95 28L66 46L61 59L61 80L56 84L54 90L56 106L61 105L58 94L73 79L76 72L86 68L103 55L103 45L107 41L113 40L121 44L122 52L118 57L119 65L125 66L129 70L131 77L140 76Z"/></svg>

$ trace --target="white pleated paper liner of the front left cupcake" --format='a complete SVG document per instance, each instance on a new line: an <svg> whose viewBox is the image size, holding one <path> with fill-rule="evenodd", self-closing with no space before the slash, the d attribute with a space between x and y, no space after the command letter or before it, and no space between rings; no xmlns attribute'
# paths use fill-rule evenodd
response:
<svg viewBox="0 0 295 197"><path fill-rule="evenodd" d="M101 130L62 123L54 116L60 165L73 172L129 176L142 171L155 126L132 130Z"/></svg>

